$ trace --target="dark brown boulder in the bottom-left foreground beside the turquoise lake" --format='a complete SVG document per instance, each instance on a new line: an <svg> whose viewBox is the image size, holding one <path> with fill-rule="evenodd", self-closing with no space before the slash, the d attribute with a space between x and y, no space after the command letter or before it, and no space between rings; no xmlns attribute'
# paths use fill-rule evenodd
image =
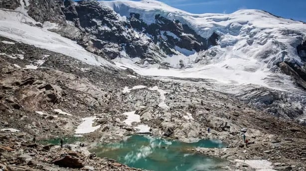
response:
<svg viewBox="0 0 306 171"><path fill-rule="evenodd" d="M84 165L81 163L80 159L74 156L65 155L55 159L52 162L54 165L64 168L83 168Z"/></svg>

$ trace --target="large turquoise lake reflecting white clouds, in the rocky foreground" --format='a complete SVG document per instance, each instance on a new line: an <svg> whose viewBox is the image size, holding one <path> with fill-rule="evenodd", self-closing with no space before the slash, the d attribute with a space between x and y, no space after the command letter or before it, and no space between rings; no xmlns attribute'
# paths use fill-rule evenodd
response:
<svg viewBox="0 0 306 171"><path fill-rule="evenodd" d="M118 143L101 145L91 150L129 167L150 171L222 171L224 161L193 153L195 147L222 148L224 143L200 140L183 143L151 136L133 135Z"/></svg>

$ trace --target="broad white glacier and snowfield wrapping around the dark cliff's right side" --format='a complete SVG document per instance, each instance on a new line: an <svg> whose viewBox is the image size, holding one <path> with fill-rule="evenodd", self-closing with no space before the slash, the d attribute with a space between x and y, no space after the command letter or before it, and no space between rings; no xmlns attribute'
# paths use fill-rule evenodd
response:
<svg viewBox="0 0 306 171"><path fill-rule="evenodd" d="M297 46L306 40L306 24L302 22L279 18L261 10L239 10L231 14L191 14L154 0L100 3L111 7L121 16L129 16L131 12L139 13L141 19L148 24L155 22L154 16L160 14L189 25L204 38L213 32L221 36L219 45L206 52L163 59L171 66L179 65L181 60L187 66L185 69L165 70L158 68L158 65L136 65L134 62L137 59L115 60L121 66L133 67L141 74L213 78L222 82L278 87L279 84L275 85L275 82L287 84L289 81L282 80L290 79L279 74L280 62L303 65L297 53ZM289 87L292 87L291 84Z"/></svg>

